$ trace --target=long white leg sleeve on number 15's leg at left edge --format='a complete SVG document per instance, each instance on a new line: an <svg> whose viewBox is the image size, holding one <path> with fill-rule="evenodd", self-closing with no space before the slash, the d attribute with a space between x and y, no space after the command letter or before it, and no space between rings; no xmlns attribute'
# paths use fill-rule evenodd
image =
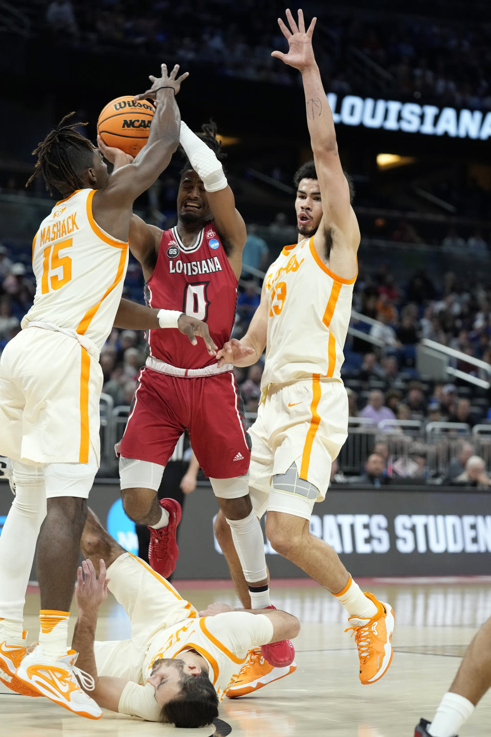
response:
<svg viewBox="0 0 491 737"><path fill-rule="evenodd" d="M9 632L15 622L22 637L27 584L40 526L46 517L42 469L13 463L15 499L0 535L0 618ZM15 644L15 643L14 643Z"/></svg>

